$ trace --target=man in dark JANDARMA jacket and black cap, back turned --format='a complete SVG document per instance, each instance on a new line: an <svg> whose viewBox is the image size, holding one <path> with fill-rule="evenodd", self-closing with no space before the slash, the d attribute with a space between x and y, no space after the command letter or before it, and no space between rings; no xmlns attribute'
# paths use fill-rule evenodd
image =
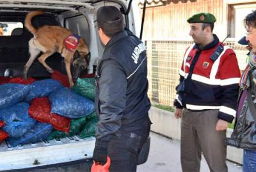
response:
<svg viewBox="0 0 256 172"><path fill-rule="evenodd" d="M125 31L124 17L115 6L99 8L97 24L106 47L97 64L99 122L93 160L104 164L108 155L110 171L136 171L151 124L146 49L140 39Z"/></svg>

